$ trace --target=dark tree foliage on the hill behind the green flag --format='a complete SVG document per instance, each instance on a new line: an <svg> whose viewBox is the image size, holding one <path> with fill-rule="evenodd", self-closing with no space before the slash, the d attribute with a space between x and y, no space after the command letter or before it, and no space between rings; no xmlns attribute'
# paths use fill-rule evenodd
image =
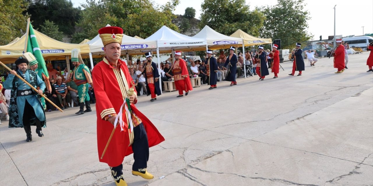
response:
<svg viewBox="0 0 373 186"><path fill-rule="evenodd" d="M59 30L71 35L75 32L75 22L80 19L81 9L75 8L71 0L28 0L28 14L32 26L39 29L49 20L58 25Z"/></svg>

